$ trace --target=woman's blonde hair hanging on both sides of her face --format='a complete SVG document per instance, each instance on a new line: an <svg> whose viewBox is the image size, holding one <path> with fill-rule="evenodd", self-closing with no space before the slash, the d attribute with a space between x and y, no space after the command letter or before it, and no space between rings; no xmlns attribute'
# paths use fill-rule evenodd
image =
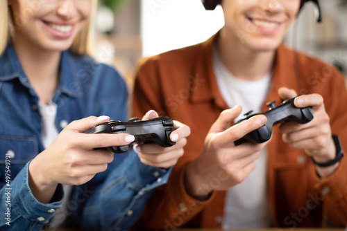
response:
<svg viewBox="0 0 347 231"><path fill-rule="evenodd" d="M96 15L97 0L92 0L92 12L85 27L76 35L69 48L77 55L94 55L94 18ZM9 41L14 36L15 26L12 20L12 11L7 0L0 0L0 55L2 55Z"/></svg>

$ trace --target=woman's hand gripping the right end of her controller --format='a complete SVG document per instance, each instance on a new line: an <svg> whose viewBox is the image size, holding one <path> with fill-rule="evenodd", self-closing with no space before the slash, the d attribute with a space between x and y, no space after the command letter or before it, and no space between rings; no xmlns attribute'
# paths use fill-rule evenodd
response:
<svg viewBox="0 0 347 231"><path fill-rule="evenodd" d="M158 113L149 111L142 120L157 118ZM184 154L184 147L187 144L187 136L190 129L187 125L174 120L175 130L171 132L171 141L176 142L172 147L160 147L157 144L135 145L135 151L139 155L142 163L153 167L168 168L176 165L178 159Z"/></svg>

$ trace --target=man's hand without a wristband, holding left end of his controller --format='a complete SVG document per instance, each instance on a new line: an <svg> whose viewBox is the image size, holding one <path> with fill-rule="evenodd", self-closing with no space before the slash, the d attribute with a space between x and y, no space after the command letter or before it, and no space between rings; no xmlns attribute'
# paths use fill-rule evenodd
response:
<svg viewBox="0 0 347 231"><path fill-rule="evenodd" d="M217 187L212 190L228 190L242 183L255 168L254 161L267 142L246 142L235 146L234 141L262 127L266 117L257 115L230 127L241 111L240 106L222 111L205 138L201 155L187 165L185 187L195 198L204 198L210 194L210 187L205 186L211 185L212 181L219 181L218 184L214 183Z"/></svg>

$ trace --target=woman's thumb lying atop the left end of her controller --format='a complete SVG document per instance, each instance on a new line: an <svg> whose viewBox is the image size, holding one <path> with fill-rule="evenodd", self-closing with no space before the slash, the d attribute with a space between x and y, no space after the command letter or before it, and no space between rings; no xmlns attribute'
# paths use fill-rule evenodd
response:
<svg viewBox="0 0 347 231"><path fill-rule="evenodd" d="M96 124L101 124L103 122L108 122L110 120L110 117L106 115L101 115L99 117L96 116L90 116L87 118L83 118L81 120L74 120L69 125L67 125L67 128L75 130L79 133L85 133L86 131L92 129L96 126Z"/></svg>

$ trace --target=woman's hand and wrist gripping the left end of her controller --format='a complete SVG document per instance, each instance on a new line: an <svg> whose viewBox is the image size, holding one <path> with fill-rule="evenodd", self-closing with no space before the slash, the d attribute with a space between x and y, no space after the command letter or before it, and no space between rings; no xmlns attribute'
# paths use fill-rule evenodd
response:
<svg viewBox="0 0 347 231"><path fill-rule="evenodd" d="M90 116L71 122L47 149L31 161L29 185L38 201L49 203L58 183L81 185L90 181L95 174L105 171L114 154L108 149L97 148L133 142L134 136L126 133L85 133L109 119Z"/></svg>

